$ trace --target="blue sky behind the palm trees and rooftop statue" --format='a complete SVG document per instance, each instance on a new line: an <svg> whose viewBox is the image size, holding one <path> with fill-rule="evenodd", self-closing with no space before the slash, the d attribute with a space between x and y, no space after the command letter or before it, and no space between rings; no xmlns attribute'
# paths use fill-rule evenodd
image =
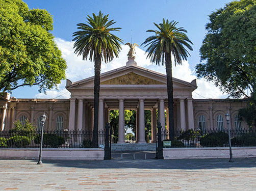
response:
<svg viewBox="0 0 256 191"><path fill-rule="evenodd" d="M109 14L110 19L114 19L116 24L114 26L121 27L121 31L116 33L118 37L123 39L124 43L131 41L131 34L133 38L133 42L137 44L141 44L150 34L146 33L148 29L155 29L153 22L160 23L162 19L169 19L178 21L178 26L183 26L187 31L187 35L190 40L193 42L193 51L190 52L191 57L188 58L188 63L185 67L187 70L190 70L190 73L187 75L191 75L191 77L184 78L184 76L176 74L175 77L190 80L190 78L195 77L194 75L194 67L199 63L199 48L201 46L202 40L206 31L204 29L208 20L208 15L211 12L224 7L226 3L232 2L227 0L159 0L159 1L121 1L121 0L93 0L93 1L65 1L65 0L24 0L25 3L28 4L30 9L39 8L45 9L50 14L53 15L54 18L54 31L53 35L56 37L56 42L59 48L64 52L68 64L67 69L67 77L71 78L71 80L79 80L79 77L86 78L91 76L93 73L91 72L93 68L91 64L88 62L82 63L79 60L75 59L74 56L70 58L70 54L72 53L72 33L76 31L76 24L80 22L86 22L86 16L92 15L92 13L98 13L99 10L104 14ZM124 48L125 49L125 48ZM126 49L125 49L126 50ZM144 47L140 47L138 51L145 51ZM141 52L141 53L142 53ZM142 54L141 54L142 55ZM125 54L124 54L125 56ZM120 56L119 56L120 57ZM79 57L78 57L79 59ZM139 54L137 59L140 60ZM78 61L76 63L76 61ZM125 62L119 60L120 62ZM138 62L138 61L137 61ZM70 71L72 66L81 65L80 67L84 69L87 68L86 63L90 65L88 67L90 72L83 70L84 73L80 73L77 76L71 75ZM146 61L145 61L146 63ZM82 66L83 64L83 66ZM103 71L107 71L109 69L113 69L125 65L125 63L115 64L112 63L110 66L106 66L103 68ZM138 63L138 65L140 65ZM149 64L141 64L143 67L148 67L149 69L155 69L154 66L149 66ZM156 68L159 72L164 73L164 67ZM72 73L72 72L71 72ZM185 74L186 75L186 74ZM81 79L81 78L80 78ZM204 81L205 83L205 81ZM64 88L65 81L59 86L59 91L48 91L47 96L43 94L38 94L38 87L34 88L19 88L12 92L12 96L17 98L34 98L34 97L68 97L68 94L65 94L66 90ZM199 87L199 84L198 84ZM207 91L212 89L202 89L198 90L197 94L200 94L202 97L209 97ZM61 94L65 94L61 96ZM206 93L206 94L205 94ZM197 95L198 96L198 95ZM225 95L218 94L215 97L225 97Z"/></svg>

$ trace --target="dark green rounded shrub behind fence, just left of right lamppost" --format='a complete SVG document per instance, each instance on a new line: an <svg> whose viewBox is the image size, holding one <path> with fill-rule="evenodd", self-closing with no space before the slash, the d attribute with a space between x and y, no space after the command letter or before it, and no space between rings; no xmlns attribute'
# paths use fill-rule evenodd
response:
<svg viewBox="0 0 256 191"><path fill-rule="evenodd" d="M228 144L228 134L225 132L212 132L200 139L203 147L223 147Z"/></svg>

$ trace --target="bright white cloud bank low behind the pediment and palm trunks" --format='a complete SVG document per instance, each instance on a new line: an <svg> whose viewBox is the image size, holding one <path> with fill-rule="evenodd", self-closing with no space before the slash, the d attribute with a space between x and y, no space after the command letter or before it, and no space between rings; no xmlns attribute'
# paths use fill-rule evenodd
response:
<svg viewBox="0 0 256 191"><path fill-rule="evenodd" d="M77 56L74 53L73 42L65 41L60 38L55 38L59 49L62 52L63 58L67 62L66 69L66 78L71 81L78 81L94 75L94 63L90 61L83 61L82 56ZM129 51L129 46L121 45L122 50L119 53L119 58L114 59L110 63L101 64L101 73L125 66L127 62L127 52ZM157 66L156 64L150 63L150 60L146 58L145 51L139 47L135 48L136 50L136 59L138 66L157 71L159 73L165 74L165 66ZM182 65L173 66L173 77L182 79L188 82L191 82L193 79L196 79L195 71L192 71L188 61L184 61ZM57 90L46 91L46 94L40 93L37 94L36 98L69 98L70 93L65 89L66 80L63 80L62 83L58 86ZM193 98L223 98L226 95L223 95L222 92L214 86L213 83L210 83L204 79L197 79L198 88L192 93Z"/></svg>

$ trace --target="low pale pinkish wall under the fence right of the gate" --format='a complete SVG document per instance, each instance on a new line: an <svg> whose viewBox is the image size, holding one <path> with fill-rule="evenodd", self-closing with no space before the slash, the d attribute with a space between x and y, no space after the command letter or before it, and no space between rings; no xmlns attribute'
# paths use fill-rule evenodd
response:
<svg viewBox="0 0 256 191"><path fill-rule="evenodd" d="M256 157L256 147L233 147L233 157ZM164 159L229 158L229 147L164 148Z"/></svg>

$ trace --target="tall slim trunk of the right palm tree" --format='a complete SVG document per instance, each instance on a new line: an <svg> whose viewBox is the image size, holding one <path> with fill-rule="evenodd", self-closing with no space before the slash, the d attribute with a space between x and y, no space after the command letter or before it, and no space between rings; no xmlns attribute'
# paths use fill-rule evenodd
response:
<svg viewBox="0 0 256 191"><path fill-rule="evenodd" d="M169 133L171 141L174 140L174 119L173 119L173 85L172 85L172 68L171 54L166 53L165 70L167 76L167 94L168 94L168 110L169 110Z"/></svg>

